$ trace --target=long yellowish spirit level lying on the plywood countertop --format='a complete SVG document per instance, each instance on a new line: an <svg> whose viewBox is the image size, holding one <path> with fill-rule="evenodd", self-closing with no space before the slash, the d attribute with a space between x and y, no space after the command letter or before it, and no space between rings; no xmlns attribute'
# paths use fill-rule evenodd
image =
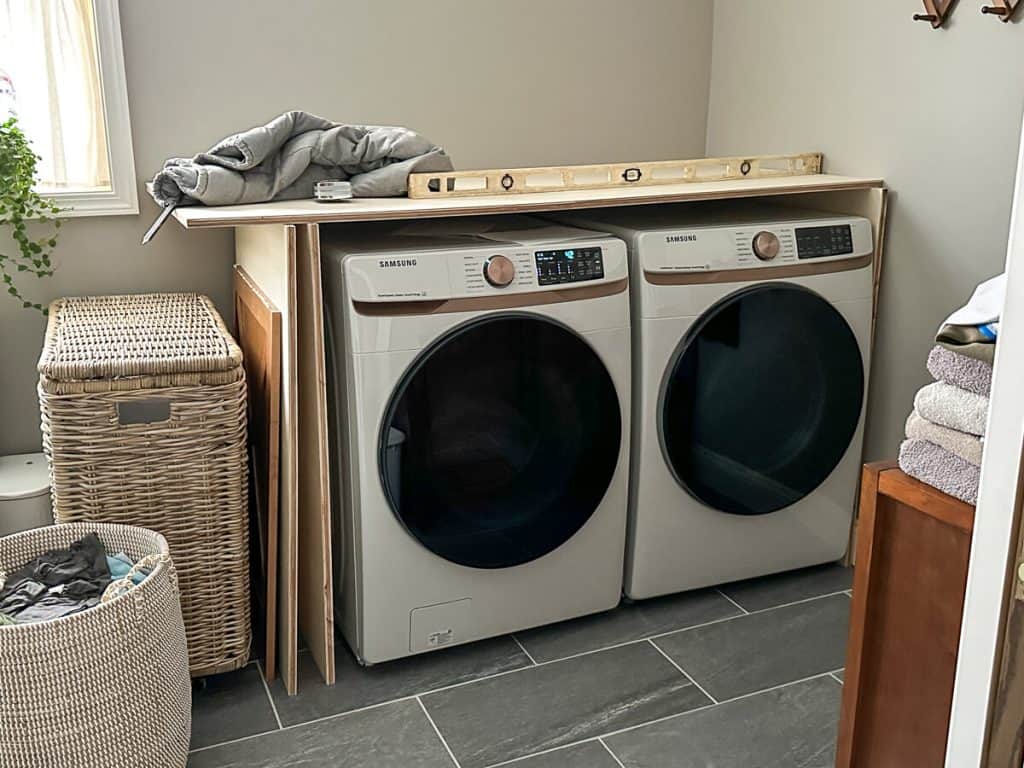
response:
<svg viewBox="0 0 1024 768"><path fill-rule="evenodd" d="M529 195L539 191L810 176L821 173L821 160L820 153L804 153L413 173L409 177L409 197L479 198L486 195Z"/></svg>

